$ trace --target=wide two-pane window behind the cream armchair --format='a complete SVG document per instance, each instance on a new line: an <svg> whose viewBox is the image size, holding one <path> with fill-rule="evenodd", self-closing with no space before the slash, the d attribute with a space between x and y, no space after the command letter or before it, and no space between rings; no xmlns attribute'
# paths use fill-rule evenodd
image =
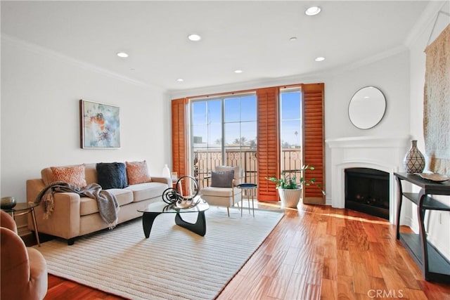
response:
<svg viewBox="0 0 450 300"><path fill-rule="evenodd" d="M255 93L191 101L193 174L200 186L218 165L240 166L246 182L255 182L256 105Z"/></svg>

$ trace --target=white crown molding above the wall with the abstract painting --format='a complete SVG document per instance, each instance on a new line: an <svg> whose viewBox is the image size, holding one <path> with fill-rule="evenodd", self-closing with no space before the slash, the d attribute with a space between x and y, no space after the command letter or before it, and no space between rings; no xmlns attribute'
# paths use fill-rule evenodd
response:
<svg viewBox="0 0 450 300"><path fill-rule="evenodd" d="M86 63L81 60L77 60L76 58L72 58L71 56L66 56L65 54L60 53L58 51L53 51L49 48L39 46L30 41L25 41L25 40L19 39L17 37L12 37L9 34L2 33L1 34L1 42L13 44L20 48L24 48L27 51L37 53L40 56L47 56L49 58L58 58L59 60L64 60L66 63L70 63L71 65L75 65L76 67L80 67L82 69L89 70L91 72L96 72L98 74L103 74L107 77L112 77L114 79L127 82L128 84L134 84L134 85L140 86L144 89L158 89L158 90L166 91L166 89L164 89L162 86L157 86L155 84L146 84L143 81L131 79L129 77L123 76L116 72L107 70L103 67L98 67L96 65L92 65L91 63Z"/></svg>

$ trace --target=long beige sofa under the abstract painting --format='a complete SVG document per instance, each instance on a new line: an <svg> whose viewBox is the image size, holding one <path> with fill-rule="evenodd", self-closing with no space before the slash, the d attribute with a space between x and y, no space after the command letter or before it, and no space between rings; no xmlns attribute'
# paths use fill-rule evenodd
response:
<svg viewBox="0 0 450 300"><path fill-rule="evenodd" d="M96 164L85 164L84 173L88 185L98 183ZM150 178L151 182L108 190L115 195L120 204L118 223L142 216L137 209L153 202L162 201L161 195L164 190L172 187L170 178L155 176L150 176ZM27 180L27 202L34 202L39 192L53 181L51 168L42 169L41 178ZM44 219L43 203L34 209L39 233L62 237L68 240L68 244L73 244L76 237L108 228L108 224L98 214L96 200L80 197L77 193L55 193L53 198L54 209L48 219ZM28 228L34 230L30 218L29 215Z"/></svg>

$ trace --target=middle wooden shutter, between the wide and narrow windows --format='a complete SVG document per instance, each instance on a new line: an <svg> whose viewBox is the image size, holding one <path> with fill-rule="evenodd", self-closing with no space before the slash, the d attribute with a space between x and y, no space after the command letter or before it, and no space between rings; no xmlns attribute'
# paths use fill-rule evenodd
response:
<svg viewBox="0 0 450 300"><path fill-rule="evenodd" d="M275 183L266 177L280 174L278 87L257 90L258 200L277 201Z"/></svg>

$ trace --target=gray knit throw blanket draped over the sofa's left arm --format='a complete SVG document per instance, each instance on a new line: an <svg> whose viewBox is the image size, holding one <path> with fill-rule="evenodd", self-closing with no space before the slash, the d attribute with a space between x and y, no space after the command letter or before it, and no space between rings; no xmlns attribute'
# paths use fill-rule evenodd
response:
<svg viewBox="0 0 450 300"><path fill-rule="evenodd" d="M77 193L81 197L89 197L95 199L98 205L98 212L105 223L108 224L110 229L115 228L117 225L117 212L119 211L119 202L115 195L108 192L108 190L102 190L101 186L97 183L91 183L79 188L70 183L64 181L55 181L47 185L44 190L41 190L39 195L37 195L34 203L44 203L44 219L49 219L53 208L55 207L55 202L53 200L54 193Z"/></svg>

